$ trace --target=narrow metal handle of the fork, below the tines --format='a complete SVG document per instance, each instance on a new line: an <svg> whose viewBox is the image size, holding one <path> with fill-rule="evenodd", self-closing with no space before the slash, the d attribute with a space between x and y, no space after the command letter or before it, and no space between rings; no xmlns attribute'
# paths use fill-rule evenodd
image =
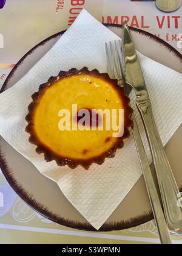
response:
<svg viewBox="0 0 182 256"><path fill-rule="evenodd" d="M172 244L170 238L169 229L166 224L166 219L164 218L164 213L160 204L160 199L157 194L157 189L153 181L152 172L150 170L149 162L147 160L147 155L141 140L140 132L138 130L138 125L136 123L135 116L133 114L133 137L135 139L136 149L138 151L138 156L140 159L141 169L143 170L143 176L146 183L147 193L150 199L150 205L152 207L152 212L155 218L155 224L158 229L158 234L162 244Z"/></svg>

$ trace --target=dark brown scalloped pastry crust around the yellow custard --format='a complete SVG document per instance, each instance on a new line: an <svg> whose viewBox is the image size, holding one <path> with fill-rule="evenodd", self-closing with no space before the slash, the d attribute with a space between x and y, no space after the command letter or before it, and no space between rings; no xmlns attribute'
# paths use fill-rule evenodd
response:
<svg viewBox="0 0 182 256"><path fill-rule="evenodd" d="M84 75L91 77L93 79L101 79L102 81L109 84L116 91L116 93L118 94L118 98L121 99L121 102L124 108L124 133L122 137L115 138L115 141L114 142L112 141L112 144L110 144L110 147L107 148L106 151L101 152L101 154L95 155L94 157L87 158L86 155L89 149L83 149L83 157L80 157L80 158L68 157L66 155L59 154L59 152L55 152L55 150L52 150L51 145L49 146L46 144L46 141L41 140L40 135L38 135L38 132L36 132L35 115L36 115L36 110L38 110L42 96L44 96L44 93L45 91L47 91L48 88L53 87L53 85L55 85L57 82L59 82L62 79L66 79L69 77L74 78L74 76L78 77L78 76L84 76ZM90 84L92 84L92 82L90 82ZM38 92L32 95L32 100L33 101L30 103L28 107L29 113L25 117L28 123L25 130L30 134L30 137L29 137L30 143L36 145L36 152L38 154L42 154L42 153L44 154L44 158L46 162L55 160L58 166L67 165L72 169L75 169L79 165L83 166L83 168L85 169L89 169L89 167L93 163L102 165L106 157L114 157L116 153L116 149L123 148L124 138L127 138L130 135L129 127L132 127L132 124L133 124L132 120L130 119L133 112L132 108L129 107L130 99L124 93L124 88L119 87L117 85L116 79L110 79L107 73L99 73L97 69L93 69L92 71L89 71L89 69L85 67L80 70L72 68L67 72L60 71L58 76L55 76L55 77L52 76L45 84L40 85ZM99 101L99 97L98 97L98 101ZM86 139L87 138L84 138L84 140ZM104 143L109 143L109 140L110 140L109 137L106 138L106 140L103 142L103 146L104 146ZM61 146L61 143L60 143L60 146Z"/></svg>

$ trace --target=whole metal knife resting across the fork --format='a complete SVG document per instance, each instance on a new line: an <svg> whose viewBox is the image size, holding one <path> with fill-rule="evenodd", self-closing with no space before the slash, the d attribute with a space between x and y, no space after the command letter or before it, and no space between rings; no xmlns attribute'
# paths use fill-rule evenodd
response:
<svg viewBox="0 0 182 256"><path fill-rule="evenodd" d="M155 124L150 103L149 93L138 60L135 46L127 23L123 27L123 59L126 83L131 85L136 94L136 106L140 111L149 140L153 163L157 173L161 199L163 202L166 221L170 227L182 227L181 194L178 190L172 169L167 160L160 135Z"/></svg>

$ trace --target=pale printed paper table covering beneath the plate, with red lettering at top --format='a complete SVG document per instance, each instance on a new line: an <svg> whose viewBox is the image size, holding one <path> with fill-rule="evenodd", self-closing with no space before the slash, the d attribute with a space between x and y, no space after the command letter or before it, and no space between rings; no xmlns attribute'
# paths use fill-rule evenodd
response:
<svg viewBox="0 0 182 256"><path fill-rule="evenodd" d="M97 10L94 8L93 1L97 2ZM110 4L112 4L112 10L110 10ZM98 20L101 21L103 16L103 19L108 21L108 16L111 16L113 19L115 17L114 15L117 14L118 4L126 10L125 13L130 17L134 15L131 11L132 4L135 4L134 9L136 15L139 16L141 16L143 12L143 7L146 7L146 10L148 10L149 7L155 10L153 2L139 2L138 5L136 5L135 2L127 0L87 0L83 7L86 7ZM41 10L41 12L35 11L35 8L32 9L31 7L33 7L33 5L36 5L37 10ZM15 63L18 62L25 52L44 38L60 30L67 29L68 21L71 16L70 9L72 9L73 6L65 4L62 8L63 10L58 5L57 0L32 0L26 4L25 1L22 0L16 0L16 4L14 0L6 2L4 9L0 10L0 40L2 38L4 39L0 41L0 87ZM33 10L33 13L31 10ZM153 12L154 15L155 11ZM156 12L158 13L159 11L156 9ZM160 15L164 14L160 13ZM15 24L12 24L12 16L16 18ZM6 24L1 22L3 19L6 21ZM24 26L19 25L22 23L22 19L25 19ZM52 21L51 24L50 21ZM12 25L14 26L13 28ZM17 27L19 27L18 35L16 35ZM146 30L150 29L147 28ZM158 27L156 27L156 30L158 30ZM25 35L27 35L27 31L29 32L30 38L33 39L24 39ZM152 32L155 34L154 31ZM164 32L166 33L166 30ZM179 32L178 29L171 27L169 33L178 34ZM10 40L10 35L11 37L13 35L13 38L15 38L13 44L12 40ZM177 46L174 40L171 43ZM179 51L181 51L181 48L179 48ZM172 236L172 240L174 243L182 243L182 238L179 236ZM45 219L25 204L12 188L10 188L0 170L0 243L122 244L159 243L159 241L154 221L147 222L133 229L113 232L84 232L60 226Z"/></svg>

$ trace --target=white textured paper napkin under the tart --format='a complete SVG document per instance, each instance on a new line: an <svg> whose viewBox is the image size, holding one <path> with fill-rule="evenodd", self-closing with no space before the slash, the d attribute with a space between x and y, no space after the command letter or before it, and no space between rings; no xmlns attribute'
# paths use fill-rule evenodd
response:
<svg viewBox="0 0 182 256"><path fill-rule="evenodd" d="M2 137L42 174L55 180L67 199L95 229L103 225L141 176L132 136L125 140L125 147L117 151L116 157L107 158L103 165L94 164L88 171L81 167L72 170L58 167L55 162L46 163L42 155L36 154L25 132L25 116L32 94L60 70L87 66L106 72L105 42L116 39L118 36L83 10L29 73L0 95ZM182 76L141 54L139 57L157 126L166 144L182 123ZM144 141L147 145L145 138Z"/></svg>

